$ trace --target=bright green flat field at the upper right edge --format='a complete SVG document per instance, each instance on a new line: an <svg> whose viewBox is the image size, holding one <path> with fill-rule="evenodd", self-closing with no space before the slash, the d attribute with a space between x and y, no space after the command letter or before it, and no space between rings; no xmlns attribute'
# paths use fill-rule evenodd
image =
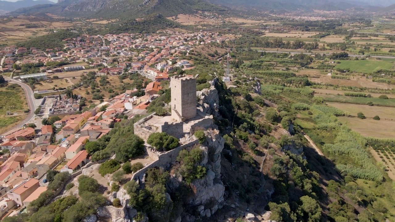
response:
<svg viewBox="0 0 395 222"><path fill-rule="evenodd" d="M361 73L372 73L378 66L384 69L391 69L393 63L382 61L382 60L341 60L339 64L335 66L335 69L346 69L350 68L351 71Z"/></svg>

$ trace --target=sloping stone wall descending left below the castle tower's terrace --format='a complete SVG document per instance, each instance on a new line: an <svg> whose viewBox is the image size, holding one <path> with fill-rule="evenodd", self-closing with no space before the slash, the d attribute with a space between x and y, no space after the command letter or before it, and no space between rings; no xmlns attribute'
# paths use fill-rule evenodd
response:
<svg viewBox="0 0 395 222"><path fill-rule="evenodd" d="M161 154L159 156L159 160L156 160L154 162L152 162L151 164L149 164L148 166L145 166L143 169L140 169L139 171L137 171L136 173L133 174L132 180L139 180L141 181L143 179L143 176L145 174L145 172L147 171L147 169L152 168L152 167L163 167L166 166L172 162L175 162L178 154L180 151L182 151L183 149L186 149L187 147L191 147L195 144L198 143L198 139L194 139L193 141L190 141L189 143L186 143L184 145L181 145L171 151L167 151L164 152L163 154Z"/></svg>

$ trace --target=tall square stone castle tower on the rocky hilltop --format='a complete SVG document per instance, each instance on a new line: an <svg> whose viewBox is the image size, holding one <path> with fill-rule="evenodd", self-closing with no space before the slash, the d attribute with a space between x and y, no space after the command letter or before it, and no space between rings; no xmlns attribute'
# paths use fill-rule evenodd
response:
<svg viewBox="0 0 395 222"><path fill-rule="evenodd" d="M180 122L196 117L196 79L173 76L171 86L171 117Z"/></svg>

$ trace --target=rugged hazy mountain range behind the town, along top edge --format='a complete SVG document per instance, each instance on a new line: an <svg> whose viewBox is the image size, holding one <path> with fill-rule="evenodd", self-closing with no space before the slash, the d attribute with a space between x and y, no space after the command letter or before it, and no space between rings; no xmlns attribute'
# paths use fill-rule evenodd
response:
<svg viewBox="0 0 395 222"><path fill-rule="evenodd" d="M164 17L196 11L226 11L203 0L59 0L57 4L21 8L11 15L49 12L68 17L134 19L160 13Z"/></svg>

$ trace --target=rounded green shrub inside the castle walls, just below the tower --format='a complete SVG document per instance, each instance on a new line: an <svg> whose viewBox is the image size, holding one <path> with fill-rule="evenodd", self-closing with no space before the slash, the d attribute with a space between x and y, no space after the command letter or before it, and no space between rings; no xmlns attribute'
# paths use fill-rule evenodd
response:
<svg viewBox="0 0 395 222"><path fill-rule="evenodd" d="M150 134L147 139L147 143L155 147L157 151L170 151L178 147L179 141L179 139L165 132Z"/></svg>

